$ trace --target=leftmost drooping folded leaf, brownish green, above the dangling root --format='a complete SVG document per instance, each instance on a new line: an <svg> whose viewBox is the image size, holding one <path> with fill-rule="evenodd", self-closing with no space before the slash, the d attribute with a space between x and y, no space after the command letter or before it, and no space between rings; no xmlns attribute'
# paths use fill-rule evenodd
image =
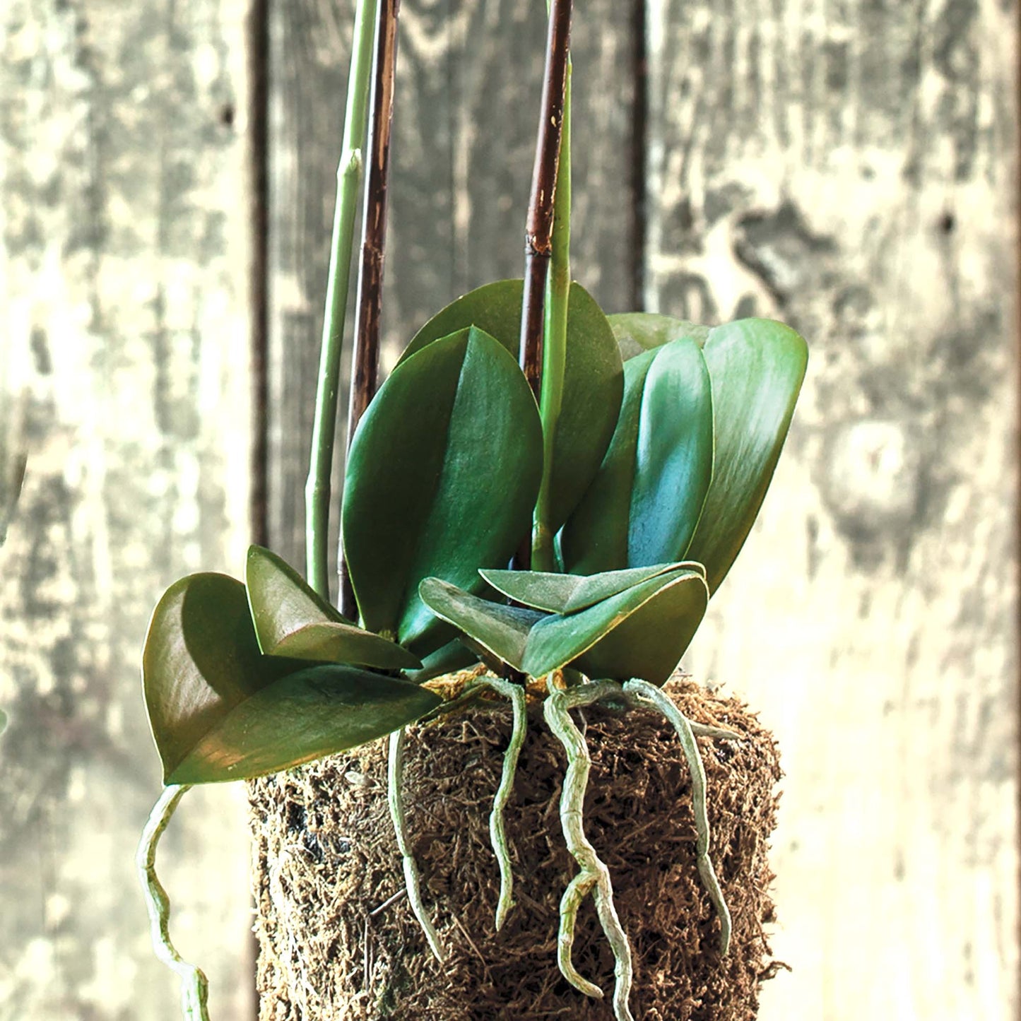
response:
<svg viewBox="0 0 1021 1021"><path fill-rule="evenodd" d="M389 733L440 701L354 667L261 655L244 585L217 574L182 578L163 594L142 682L167 784L308 762Z"/></svg>

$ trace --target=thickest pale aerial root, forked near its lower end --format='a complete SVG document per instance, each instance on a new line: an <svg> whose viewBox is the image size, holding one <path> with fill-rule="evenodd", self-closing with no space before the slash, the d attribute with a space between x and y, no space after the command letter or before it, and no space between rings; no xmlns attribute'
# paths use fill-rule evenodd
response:
<svg viewBox="0 0 1021 1021"><path fill-rule="evenodd" d="M574 856L581 871L568 884L561 898L561 927L556 941L556 963L564 977L579 991L589 996L602 998L602 990L583 978L571 960L574 946L575 922L578 909L589 892L593 893L599 924L614 952L614 1015L617 1021L634 1021L628 999L634 980L631 962L631 945L621 926L614 907L614 888L610 870L595 853L595 848L585 836L583 810L585 789L591 759L588 745L581 731L571 719L570 711L582 706L591 706L602 698L620 697L621 686L614 681L598 681L582 684L567 690L552 691L543 703L543 715L549 729L564 745L568 758L568 770L564 777L561 794L561 826L568 850Z"/></svg>

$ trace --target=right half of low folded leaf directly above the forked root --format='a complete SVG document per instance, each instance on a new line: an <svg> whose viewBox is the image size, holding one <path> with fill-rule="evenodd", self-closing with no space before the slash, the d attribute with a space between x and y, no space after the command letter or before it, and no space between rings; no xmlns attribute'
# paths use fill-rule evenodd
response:
<svg viewBox="0 0 1021 1021"><path fill-rule="evenodd" d="M529 633L522 669L540 676L570 664L590 677L663 683L691 641L708 598L702 576L681 570L579 613L547 617Z"/></svg>

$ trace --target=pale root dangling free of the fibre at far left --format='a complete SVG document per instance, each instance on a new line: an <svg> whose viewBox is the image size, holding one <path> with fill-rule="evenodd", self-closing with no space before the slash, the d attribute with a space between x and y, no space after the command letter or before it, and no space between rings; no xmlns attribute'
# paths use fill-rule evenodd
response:
<svg viewBox="0 0 1021 1021"><path fill-rule="evenodd" d="M201 969L189 964L171 942L171 898L156 877L156 846L189 784L164 787L152 808L138 844L135 865L149 912L152 946L156 957L181 977L181 1012L185 1021L209 1021L206 999L209 983Z"/></svg>

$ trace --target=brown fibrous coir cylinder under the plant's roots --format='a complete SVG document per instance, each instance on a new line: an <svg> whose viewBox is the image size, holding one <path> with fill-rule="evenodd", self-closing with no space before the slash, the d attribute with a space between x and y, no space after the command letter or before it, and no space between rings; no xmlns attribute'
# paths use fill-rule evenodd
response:
<svg viewBox="0 0 1021 1021"><path fill-rule="evenodd" d="M592 757L585 831L610 867L631 941L635 1018L746 1021L777 967L763 931L773 918L777 747L737 699L683 680L667 690L689 719L743 735L698 741L730 953L720 957L720 923L695 869L690 776L665 720L576 715ZM556 967L557 907L577 865L558 817L567 762L537 707L506 810L516 906L494 931L488 817L509 732L509 706L496 700L408 731L407 826L442 965L402 893L385 741L250 784L260 1021L613 1021L614 960L590 900L574 961L606 999L578 992Z"/></svg>

